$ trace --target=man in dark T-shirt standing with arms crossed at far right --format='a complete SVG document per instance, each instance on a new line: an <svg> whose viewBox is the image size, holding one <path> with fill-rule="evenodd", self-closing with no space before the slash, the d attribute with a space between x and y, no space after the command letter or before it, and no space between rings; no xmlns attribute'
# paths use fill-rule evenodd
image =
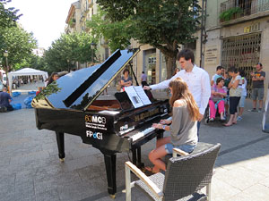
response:
<svg viewBox="0 0 269 201"><path fill-rule="evenodd" d="M253 100L253 108L252 110L248 110L251 112L256 112L256 98L259 100L259 109L258 113L262 113L263 110L263 99L265 94L265 71L262 71L263 64L256 64L256 72L250 73L252 77L252 100Z"/></svg>

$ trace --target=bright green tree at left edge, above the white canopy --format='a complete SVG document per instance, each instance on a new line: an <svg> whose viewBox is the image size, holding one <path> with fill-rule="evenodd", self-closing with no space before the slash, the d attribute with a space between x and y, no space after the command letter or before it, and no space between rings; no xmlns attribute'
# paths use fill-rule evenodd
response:
<svg viewBox="0 0 269 201"><path fill-rule="evenodd" d="M25 63L31 56L31 51L36 48L37 41L32 33L28 33L19 26L1 29L3 44L0 47L0 58L6 69L4 52L8 52L9 70L18 70L21 68L19 63Z"/></svg>

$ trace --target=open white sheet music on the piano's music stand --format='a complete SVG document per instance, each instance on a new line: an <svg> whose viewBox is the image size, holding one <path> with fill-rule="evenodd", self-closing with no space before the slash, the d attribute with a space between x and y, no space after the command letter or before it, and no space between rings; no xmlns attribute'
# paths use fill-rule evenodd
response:
<svg viewBox="0 0 269 201"><path fill-rule="evenodd" d="M134 108L152 104L149 97L144 93L142 86L126 87L125 91L134 105Z"/></svg>

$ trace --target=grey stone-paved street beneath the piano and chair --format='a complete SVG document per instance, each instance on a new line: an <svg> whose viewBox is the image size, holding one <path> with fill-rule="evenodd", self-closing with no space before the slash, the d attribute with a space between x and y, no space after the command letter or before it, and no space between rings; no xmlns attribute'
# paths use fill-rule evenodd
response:
<svg viewBox="0 0 269 201"><path fill-rule="evenodd" d="M247 100L247 109L251 102ZM262 132L262 113L245 112L237 125L201 125L200 140L220 142L213 176L213 201L269 200L269 133ZM143 161L155 140L142 148ZM65 135L65 163L57 156L56 137L37 130L33 109L0 113L0 200L111 200L103 156L98 149ZM117 155L117 197L125 200L124 162ZM147 200L134 189L133 200Z"/></svg>

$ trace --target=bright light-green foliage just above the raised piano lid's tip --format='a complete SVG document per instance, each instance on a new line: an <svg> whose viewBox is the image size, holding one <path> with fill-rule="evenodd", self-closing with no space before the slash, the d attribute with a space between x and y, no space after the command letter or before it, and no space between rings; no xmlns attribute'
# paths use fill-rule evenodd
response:
<svg viewBox="0 0 269 201"><path fill-rule="evenodd" d="M99 9L100 10L100 9ZM131 22L129 18L124 21L114 21L106 17L107 12L100 10L92 16L91 21L87 21L87 27L91 29L91 34L95 38L104 38L112 52L117 49L125 49L130 45Z"/></svg>

